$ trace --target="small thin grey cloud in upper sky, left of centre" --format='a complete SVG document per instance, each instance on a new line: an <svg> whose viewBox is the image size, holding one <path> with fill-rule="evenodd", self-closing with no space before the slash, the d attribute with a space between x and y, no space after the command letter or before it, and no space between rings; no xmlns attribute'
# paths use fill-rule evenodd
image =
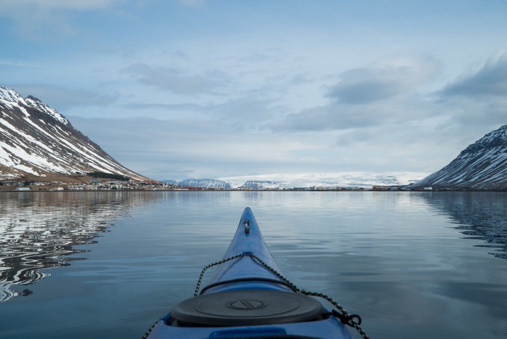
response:
<svg viewBox="0 0 507 339"><path fill-rule="evenodd" d="M136 63L123 71L141 84L184 95L215 93L231 82L225 72L216 70L189 74L181 69Z"/></svg>

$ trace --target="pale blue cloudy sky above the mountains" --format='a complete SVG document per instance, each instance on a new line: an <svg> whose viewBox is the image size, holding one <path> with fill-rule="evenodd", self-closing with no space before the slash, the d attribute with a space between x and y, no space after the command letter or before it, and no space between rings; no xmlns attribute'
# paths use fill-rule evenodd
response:
<svg viewBox="0 0 507 339"><path fill-rule="evenodd" d="M506 0L0 7L0 85L159 180L431 173L507 125Z"/></svg>

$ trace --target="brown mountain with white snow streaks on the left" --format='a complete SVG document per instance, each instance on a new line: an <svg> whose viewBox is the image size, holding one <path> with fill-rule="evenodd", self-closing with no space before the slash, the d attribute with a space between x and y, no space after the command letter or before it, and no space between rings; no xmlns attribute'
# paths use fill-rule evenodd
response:
<svg viewBox="0 0 507 339"><path fill-rule="evenodd" d="M0 86L0 178L86 172L149 179L122 166L41 100Z"/></svg>

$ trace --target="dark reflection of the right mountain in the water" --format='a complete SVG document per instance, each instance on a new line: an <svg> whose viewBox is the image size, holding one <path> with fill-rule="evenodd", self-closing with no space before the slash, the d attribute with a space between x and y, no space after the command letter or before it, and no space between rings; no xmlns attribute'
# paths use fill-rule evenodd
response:
<svg viewBox="0 0 507 339"><path fill-rule="evenodd" d="M443 209L459 223L456 229L496 248L497 258L507 259L507 194L501 192L441 192L424 195L428 203Z"/></svg>

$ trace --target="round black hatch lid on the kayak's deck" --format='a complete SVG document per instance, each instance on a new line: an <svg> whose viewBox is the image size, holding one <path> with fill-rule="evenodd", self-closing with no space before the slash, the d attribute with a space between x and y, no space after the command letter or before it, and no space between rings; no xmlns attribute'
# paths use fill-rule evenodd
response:
<svg viewBox="0 0 507 339"><path fill-rule="evenodd" d="M272 325L310 321L323 313L315 299L275 290L233 290L202 294L176 305L171 316L208 326Z"/></svg>

